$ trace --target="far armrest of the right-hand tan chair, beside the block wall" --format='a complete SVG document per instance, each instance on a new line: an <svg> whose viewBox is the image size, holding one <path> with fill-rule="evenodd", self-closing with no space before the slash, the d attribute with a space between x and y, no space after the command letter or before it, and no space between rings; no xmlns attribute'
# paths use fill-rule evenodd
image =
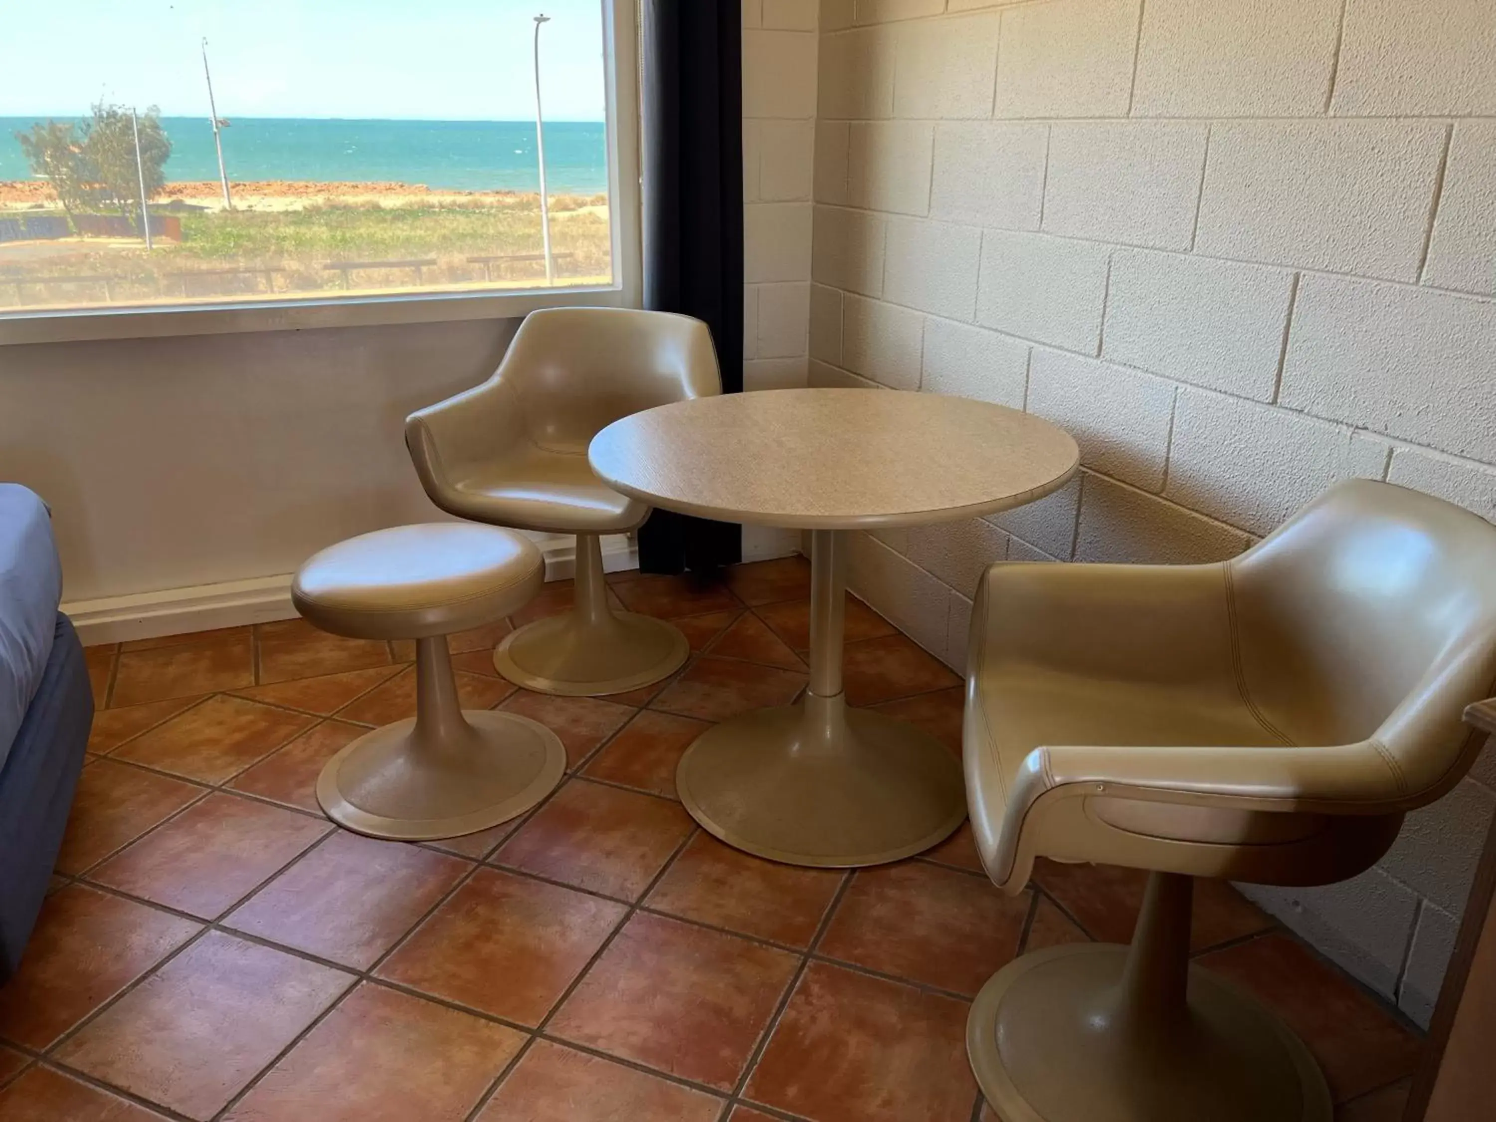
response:
<svg viewBox="0 0 1496 1122"><path fill-rule="evenodd" d="M998 562L977 586L966 666L1004 663L1126 681L1231 675L1225 567Z"/></svg>

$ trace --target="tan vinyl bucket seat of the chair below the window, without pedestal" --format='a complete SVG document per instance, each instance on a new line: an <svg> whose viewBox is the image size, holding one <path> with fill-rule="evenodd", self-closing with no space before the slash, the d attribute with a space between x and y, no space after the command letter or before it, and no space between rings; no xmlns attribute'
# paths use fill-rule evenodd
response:
<svg viewBox="0 0 1496 1122"><path fill-rule="evenodd" d="M531 313L498 371L413 413L405 444L431 500L476 522L562 534L636 530L649 507L586 462L619 417L721 392L706 325L627 308Z"/></svg>

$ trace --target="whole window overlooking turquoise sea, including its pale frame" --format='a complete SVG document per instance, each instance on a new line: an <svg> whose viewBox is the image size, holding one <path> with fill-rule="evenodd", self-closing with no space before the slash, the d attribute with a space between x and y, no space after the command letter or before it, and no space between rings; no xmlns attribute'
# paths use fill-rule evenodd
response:
<svg viewBox="0 0 1496 1122"><path fill-rule="evenodd" d="M631 10L81 0L12 13L0 343L628 301Z"/></svg>

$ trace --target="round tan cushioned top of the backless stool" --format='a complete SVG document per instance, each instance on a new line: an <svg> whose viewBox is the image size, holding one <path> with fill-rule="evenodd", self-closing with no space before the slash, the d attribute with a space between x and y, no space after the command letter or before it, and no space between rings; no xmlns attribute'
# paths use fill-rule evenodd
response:
<svg viewBox="0 0 1496 1122"><path fill-rule="evenodd" d="M323 549L296 573L292 603L325 631L423 639L491 624L540 591L530 539L473 522L375 530Z"/></svg>

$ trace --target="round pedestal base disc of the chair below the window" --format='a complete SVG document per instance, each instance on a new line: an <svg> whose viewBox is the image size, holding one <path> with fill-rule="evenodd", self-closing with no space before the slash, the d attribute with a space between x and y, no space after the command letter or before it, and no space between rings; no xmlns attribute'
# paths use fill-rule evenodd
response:
<svg viewBox="0 0 1496 1122"><path fill-rule="evenodd" d="M633 612L588 619L567 612L507 636L494 652L494 667L536 693L603 697L654 685L679 670L690 654L685 636L663 619Z"/></svg>

